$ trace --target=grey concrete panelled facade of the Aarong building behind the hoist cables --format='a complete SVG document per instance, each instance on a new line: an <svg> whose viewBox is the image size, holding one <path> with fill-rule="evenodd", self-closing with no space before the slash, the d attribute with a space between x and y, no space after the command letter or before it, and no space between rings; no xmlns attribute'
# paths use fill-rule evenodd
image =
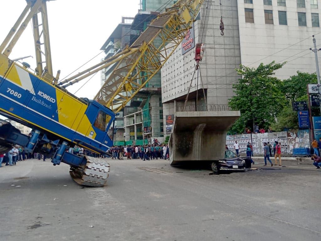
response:
<svg viewBox="0 0 321 241"><path fill-rule="evenodd" d="M207 89L207 104L226 105L233 96L232 84L239 76L235 68L241 63L239 44L239 22L237 0L226 0L223 3L224 36L221 36L219 24L221 12L219 1L213 2L205 39L205 53L200 64L204 88ZM195 43L198 41L198 30L201 20L195 22ZM182 55L179 46L161 69L162 98L170 102L187 94L195 70L195 48ZM200 77L197 86L195 74L191 92L201 89ZM210 108L208 108L210 109Z"/></svg>

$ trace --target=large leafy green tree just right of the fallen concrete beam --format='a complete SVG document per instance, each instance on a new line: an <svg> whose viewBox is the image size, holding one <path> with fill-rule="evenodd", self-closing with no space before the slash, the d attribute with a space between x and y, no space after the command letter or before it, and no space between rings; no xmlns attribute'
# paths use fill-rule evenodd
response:
<svg viewBox="0 0 321 241"><path fill-rule="evenodd" d="M261 63L257 68L240 65L236 69L242 78L233 84L235 96L230 99L229 105L232 110L239 110L241 116L230 132L242 133L245 127L250 125L253 128L254 124L268 129L274 122L286 105L286 100L279 88L281 81L273 75L284 64L275 64L273 61L267 65Z"/></svg>

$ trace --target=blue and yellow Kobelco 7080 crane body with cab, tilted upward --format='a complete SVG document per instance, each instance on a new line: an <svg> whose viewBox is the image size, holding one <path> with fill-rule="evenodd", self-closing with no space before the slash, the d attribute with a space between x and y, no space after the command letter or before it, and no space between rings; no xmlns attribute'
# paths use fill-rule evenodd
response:
<svg viewBox="0 0 321 241"><path fill-rule="evenodd" d="M52 158L54 165L64 162L73 169L84 169L90 157L69 154L66 147L77 145L104 154L113 145L108 129L113 125L114 112L96 101L77 98L15 63L4 76L1 73L0 103L2 115L33 129L27 137L2 121L2 147L10 139L27 152Z"/></svg>

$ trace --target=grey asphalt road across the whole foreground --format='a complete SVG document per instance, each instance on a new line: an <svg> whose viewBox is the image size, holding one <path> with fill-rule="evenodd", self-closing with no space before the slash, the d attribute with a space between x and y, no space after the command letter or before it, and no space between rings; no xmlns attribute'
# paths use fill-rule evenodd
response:
<svg viewBox="0 0 321 241"><path fill-rule="evenodd" d="M104 188L79 186L49 160L0 168L0 240L321 240L314 166L209 175L165 160L108 162Z"/></svg>

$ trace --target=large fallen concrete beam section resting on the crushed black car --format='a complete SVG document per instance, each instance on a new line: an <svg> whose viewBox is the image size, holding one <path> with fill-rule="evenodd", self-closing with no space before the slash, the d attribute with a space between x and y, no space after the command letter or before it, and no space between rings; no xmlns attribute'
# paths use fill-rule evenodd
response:
<svg viewBox="0 0 321 241"><path fill-rule="evenodd" d="M224 158L226 133L239 111L176 112L169 138L170 165Z"/></svg>

